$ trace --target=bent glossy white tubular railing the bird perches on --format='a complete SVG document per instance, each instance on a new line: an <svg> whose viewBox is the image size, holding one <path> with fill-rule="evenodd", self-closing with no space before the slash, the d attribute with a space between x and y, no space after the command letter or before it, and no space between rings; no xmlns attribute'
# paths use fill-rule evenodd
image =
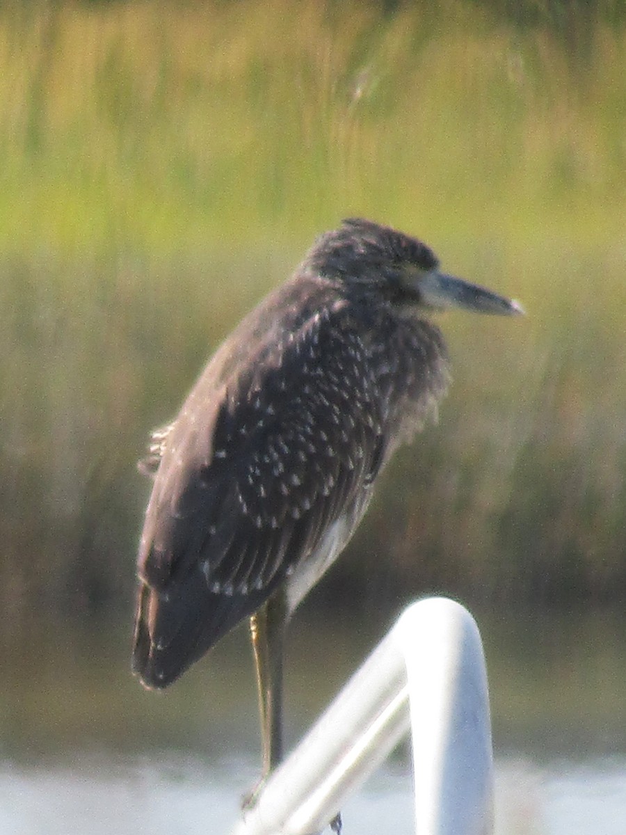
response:
<svg viewBox="0 0 626 835"><path fill-rule="evenodd" d="M487 671L462 605L410 605L265 784L234 835L321 832L411 731L416 835L491 835Z"/></svg>

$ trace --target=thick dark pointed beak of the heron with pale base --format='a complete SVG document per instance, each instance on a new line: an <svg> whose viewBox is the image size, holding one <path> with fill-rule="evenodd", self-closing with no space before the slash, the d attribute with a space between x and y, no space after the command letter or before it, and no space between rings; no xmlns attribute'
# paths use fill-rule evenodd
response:
<svg viewBox="0 0 626 835"><path fill-rule="evenodd" d="M498 296L485 287L470 284L461 278L431 271L423 274L417 289L422 305L442 310L446 307L461 307L476 313L495 313L499 316L523 315L524 309L517 301Z"/></svg>

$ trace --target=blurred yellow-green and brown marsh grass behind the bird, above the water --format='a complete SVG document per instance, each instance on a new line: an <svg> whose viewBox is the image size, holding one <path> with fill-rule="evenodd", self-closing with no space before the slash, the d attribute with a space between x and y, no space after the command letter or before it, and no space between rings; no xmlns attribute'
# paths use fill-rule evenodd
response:
<svg viewBox="0 0 626 835"><path fill-rule="evenodd" d="M328 597L623 600L626 26L619 3L513 8L0 6L5 637L128 609L148 430L356 214L529 315L442 322L441 421Z"/></svg>

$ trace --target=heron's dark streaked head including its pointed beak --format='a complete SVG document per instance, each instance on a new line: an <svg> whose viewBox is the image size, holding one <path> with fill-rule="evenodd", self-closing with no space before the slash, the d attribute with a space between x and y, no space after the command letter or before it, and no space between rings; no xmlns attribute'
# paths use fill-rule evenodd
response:
<svg viewBox="0 0 626 835"><path fill-rule="evenodd" d="M485 287L439 270L435 253L421 240L371 220L349 218L316 240L305 261L347 291L394 305L429 310L459 307L514 316L523 308Z"/></svg>

